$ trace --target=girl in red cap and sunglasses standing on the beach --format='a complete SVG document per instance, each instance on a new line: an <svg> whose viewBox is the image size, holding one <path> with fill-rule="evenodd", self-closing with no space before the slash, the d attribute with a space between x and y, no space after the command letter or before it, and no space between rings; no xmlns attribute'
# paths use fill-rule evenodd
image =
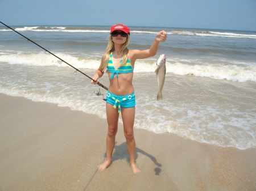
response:
<svg viewBox="0 0 256 191"><path fill-rule="evenodd" d="M132 84L134 63L137 59L155 56L159 42L166 41L167 33L157 33L150 49L129 50L130 29L123 24L115 24L110 28L109 44L101 58L101 65L93 76L91 83L97 84L98 79L107 72L109 75L109 90L106 96L106 117L108 134L106 137L106 160L98 165L103 171L112 163L115 145L115 135L118 129L119 112L122 114L123 131L126 147L130 156L130 165L134 173L141 172L135 163L135 139L133 132L135 117L135 94Z"/></svg>

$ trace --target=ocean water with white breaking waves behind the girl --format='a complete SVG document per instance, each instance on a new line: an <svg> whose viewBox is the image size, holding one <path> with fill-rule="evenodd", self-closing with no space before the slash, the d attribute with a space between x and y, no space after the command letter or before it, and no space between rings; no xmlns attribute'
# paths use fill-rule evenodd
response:
<svg viewBox="0 0 256 191"><path fill-rule="evenodd" d="M100 65L110 30L110 26L11 27L89 77ZM221 147L256 147L256 32L129 27L129 49L148 49L156 32L168 33L156 56L135 62L134 128ZM154 71L160 54L166 54L167 73L163 100L156 101ZM2 25L0 73L2 94L106 118L103 88ZM99 82L108 87L108 75Z"/></svg>

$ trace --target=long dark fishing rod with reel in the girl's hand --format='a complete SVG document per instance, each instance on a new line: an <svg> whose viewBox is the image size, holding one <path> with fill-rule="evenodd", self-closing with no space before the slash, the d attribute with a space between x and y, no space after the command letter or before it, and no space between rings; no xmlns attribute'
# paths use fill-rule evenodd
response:
<svg viewBox="0 0 256 191"><path fill-rule="evenodd" d="M0 21L0 23L2 23L2 22ZM5 23L2 23L2 24L3 24L4 26L6 26L7 28L10 28L10 29L13 30L14 32L18 33L20 36L23 36L25 39L27 39L27 40L30 41L31 43L34 43L35 45L37 45L37 46L39 46L40 48L44 49L44 50L45 50L46 52L48 52L49 54L52 54L52 56L55 56L55 57L58 58L60 61L67 63L67 65L73 67L73 69L75 69L76 71L79 71L81 74L84 74L86 77L90 78L88 75L86 75L85 73L83 73L82 71L80 71L79 69L77 69L76 67L72 66L72 65L69 64L68 62L62 60L61 58L57 57L55 54L49 52L49 50L43 48L43 47L40 46L39 44L36 44L34 41L28 39L26 36L24 36L24 35L20 34L19 32L15 31L13 28L7 26ZM90 78L90 79L93 80L94 82L96 82L96 80L94 80L94 79L92 79L92 78ZM102 83L98 82L97 84L98 84L98 86L104 88L105 90L108 90L108 88L107 88L106 86L104 86ZM98 96L99 96L99 95L103 95L103 94L101 94L100 90L99 90L99 91L93 91L93 93L96 94L96 95L98 95Z"/></svg>

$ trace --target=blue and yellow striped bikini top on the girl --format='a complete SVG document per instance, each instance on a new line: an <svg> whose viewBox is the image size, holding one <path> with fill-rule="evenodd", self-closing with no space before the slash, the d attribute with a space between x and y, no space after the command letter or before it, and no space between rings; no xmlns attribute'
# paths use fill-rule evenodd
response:
<svg viewBox="0 0 256 191"><path fill-rule="evenodd" d="M131 66L131 62L130 62L129 59L127 60L125 65L123 65L121 67L118 67L118 69L115 70L115 68L113 66L112 58L113 58L113 52L110 53L108 67L107 67L108 68L108 72L109 73L113 73L111 75L110 79L113 79L115 74L117 75L117 78L118 78L118 73L132 73L133 72L133 66ZM122 62L122 59L121 59L120 63L121 62Z"/></svg>

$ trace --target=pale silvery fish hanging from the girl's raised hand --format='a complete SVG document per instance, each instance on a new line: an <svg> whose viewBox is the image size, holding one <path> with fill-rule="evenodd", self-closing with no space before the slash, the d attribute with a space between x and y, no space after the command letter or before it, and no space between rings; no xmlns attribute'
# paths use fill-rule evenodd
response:
<svg viewBox="0 0 256 191"><path fill-rule="evenodd" d="M164 80L166 79L166 55L161 54L158 58L158 61L156 62L156 79L158 82L158 95L156 99L163 100L162 90L164 86Z"/></svg>

